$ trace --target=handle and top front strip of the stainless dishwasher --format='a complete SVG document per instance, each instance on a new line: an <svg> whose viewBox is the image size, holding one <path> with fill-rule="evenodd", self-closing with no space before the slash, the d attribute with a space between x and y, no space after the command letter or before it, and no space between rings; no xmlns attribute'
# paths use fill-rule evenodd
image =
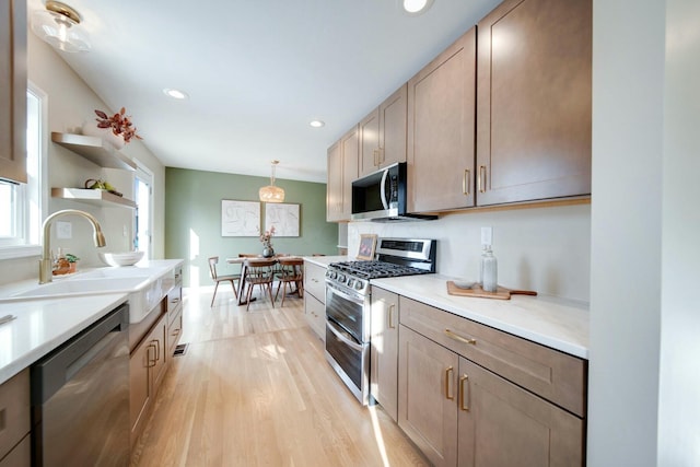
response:
<svg viewBox="0 0 700 467"><path fill-rule="evenodd" d="M56 394L108 343L109 335L129 328L129 304L124 303L32 365L32 405L40 406Z"/></svg>

